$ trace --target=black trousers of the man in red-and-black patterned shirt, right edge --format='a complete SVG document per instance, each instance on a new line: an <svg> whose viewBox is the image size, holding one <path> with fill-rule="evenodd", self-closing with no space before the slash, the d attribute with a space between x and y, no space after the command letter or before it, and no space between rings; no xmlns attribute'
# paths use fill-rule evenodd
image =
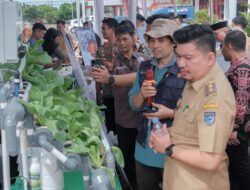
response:
<svg viewBox="0 0 250 190"><path fill-rule="evenodd" d="M228 145L230 190L250 190L250 143Z"/></svg>

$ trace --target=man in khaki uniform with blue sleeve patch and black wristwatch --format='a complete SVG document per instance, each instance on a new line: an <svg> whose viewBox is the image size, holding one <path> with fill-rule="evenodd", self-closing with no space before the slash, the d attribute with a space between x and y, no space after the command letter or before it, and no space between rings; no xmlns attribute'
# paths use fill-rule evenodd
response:
<svg viewBox="0 0 250 190"><path fill-rule="evenodd" d="M180 76L187 79L173 126L154 132L150 146L166 154L165 190L229 190L227 141L233 128L235 99L216 64L215 36L205 25L174 33Z"/></svg>

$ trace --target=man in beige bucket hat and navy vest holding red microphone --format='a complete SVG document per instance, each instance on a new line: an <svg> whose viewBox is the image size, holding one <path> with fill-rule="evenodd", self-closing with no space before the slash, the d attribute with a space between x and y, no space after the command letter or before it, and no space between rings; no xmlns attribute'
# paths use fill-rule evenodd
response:
<svg viewBox="0 0 250 190"><path fill-rule="evenodd" d="M156 19L144 38L151 48L153 58L142 62L136 80L129 92L129 103L140 112L135 148L137 184L139 190L160 190L164 155L155 153L148 146L151 118L158 117L168 127L172 125L174 109L181 98L185 80L178 77L179 69L174 55L172 35L178 29L175 22ZM153 71L153 81L148 80L148 70ZM153 97L151 109L148 99Z"/></svg>

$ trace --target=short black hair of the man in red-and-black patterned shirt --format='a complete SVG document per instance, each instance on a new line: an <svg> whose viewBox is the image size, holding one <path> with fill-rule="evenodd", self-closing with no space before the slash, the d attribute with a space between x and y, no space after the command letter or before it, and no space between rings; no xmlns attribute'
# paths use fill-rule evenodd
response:
<svg viewBox="0 0 250 190"><path fill-rule="evenodd" d="M246 50L246 35L240 30L229 31L224 39L224 44L230 44L237 52Z"/></svg>

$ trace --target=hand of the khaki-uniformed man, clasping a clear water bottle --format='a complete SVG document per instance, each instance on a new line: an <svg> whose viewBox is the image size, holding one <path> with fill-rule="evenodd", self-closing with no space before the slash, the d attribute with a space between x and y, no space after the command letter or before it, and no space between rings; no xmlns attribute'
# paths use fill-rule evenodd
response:
<svg viewBox="0 0 250 190"><path fill-rule="evenodd" d="M166 124L162 127L162 134L163 135L159 136L154 132L154 130L152 130L149 137L149 147L153 148L157 152L165 154L166 148L172 144L170 133Z"/></svg>

